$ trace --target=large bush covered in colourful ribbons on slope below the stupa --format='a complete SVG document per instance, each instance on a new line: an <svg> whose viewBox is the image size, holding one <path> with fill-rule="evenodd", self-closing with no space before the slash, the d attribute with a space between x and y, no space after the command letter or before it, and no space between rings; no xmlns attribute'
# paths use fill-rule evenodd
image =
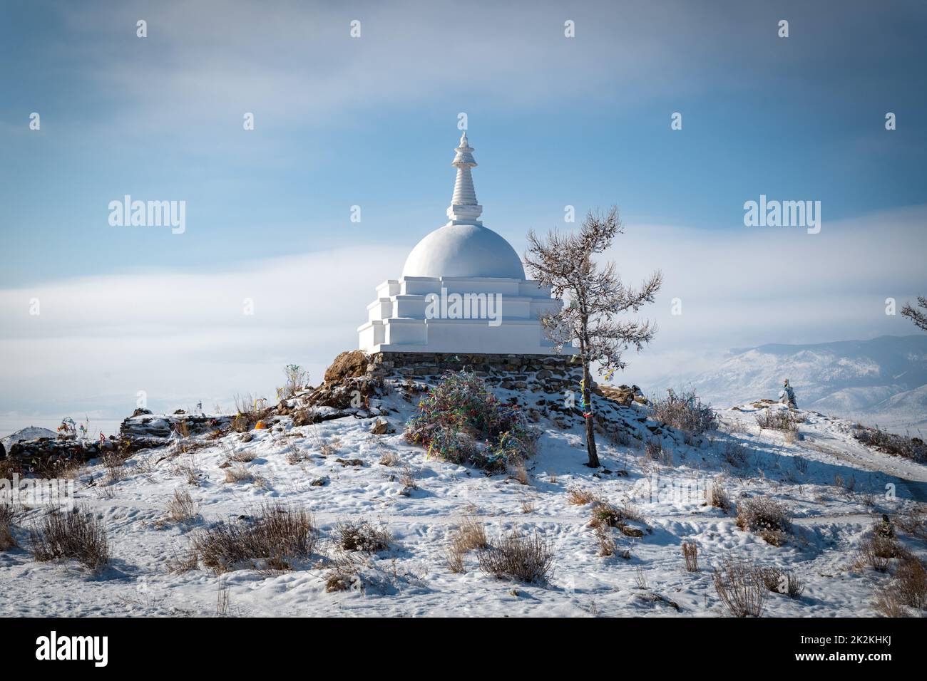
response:
<svg viewBox="0 0 927 681"><path fill-rule="evenodd" d="M538 433L472 372L447 372L418 403L405 437L428 456L502 471L534 453Z"/></svg>

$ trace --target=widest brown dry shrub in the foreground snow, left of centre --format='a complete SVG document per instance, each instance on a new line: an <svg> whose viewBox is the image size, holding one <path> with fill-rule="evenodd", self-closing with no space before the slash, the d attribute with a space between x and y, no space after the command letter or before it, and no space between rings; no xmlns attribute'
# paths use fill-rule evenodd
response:
<svg viewBox="0 0 927 681"><path fill-rule="evenodd" d="M319 533L309 511L281 503L264 504L253 521L216 523L194 536L193 549L216 574L240 566L290 570L311 556Z"/></svg>

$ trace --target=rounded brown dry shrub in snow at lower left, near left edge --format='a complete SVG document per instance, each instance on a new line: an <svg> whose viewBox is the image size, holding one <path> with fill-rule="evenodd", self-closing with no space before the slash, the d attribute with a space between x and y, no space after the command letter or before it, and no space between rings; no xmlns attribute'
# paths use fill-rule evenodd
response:
<svg viewBox="0 0 927 681"><path fill-rule="evenodd" d="M103 523L87 509L48 511L30 532L36 561L74 559L91 570L109 562L109 544Z"/></svg>

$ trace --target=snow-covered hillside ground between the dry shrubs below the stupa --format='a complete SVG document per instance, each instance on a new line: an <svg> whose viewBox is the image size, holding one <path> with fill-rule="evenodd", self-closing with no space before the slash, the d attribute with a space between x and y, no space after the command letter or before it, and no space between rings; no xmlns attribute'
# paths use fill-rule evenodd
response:
<svg viewBox="0 0 927 681"><path fill-rule="evenodd" d="M526 403L525 393L511 395ZM527 406L544 397L550 398L527 396ZM660 429L652 435L648 426L657 424L647 421L646 408L620 408L621 418L636 433L659 438L672 452L672 465L646 458L639 441L620 446L600 437L607 473L583 465L579 422L563 429L542 417L539 451L528 462L528 484L522 485L508 475L488 476L427 460L422 448L401 435L413 403L392 393L378 408L396 433L372 435L374 415L301 427L285 417L272 429L253 431L249 442L234 433L163 460L165 448L139 451L126 462L122 479L112 484L104 481L103 464L93 461L76 481L77 494L105 520L110 565L91 574L75 563L33 561L25 549L0 552L0 612L210 615L221 589L227 588L229 612L240 615L721 616L726 611L712 569L737 559L780 566L805 583L800 599L770 593L765 615L869 616L875 614L873 588L886 577L852 569L857 543L883 512L902 513L915 498L927 498L927 467L865 448L850 435L849 422L814 412L802 412L806 422L799 426L800 438L788 442L779 431L760 430L750 405L722 410L720 429L687 445L675 431ZM334 447L328 456L316 448L317 435ZM726 460L724 450L732 445L748 449L743 466ZM224 482L220 465L232 452L253 455L235 464L253 480ZM394 455L394 465L379 462L387 453ZM292 463L296 455L302 460ZM362 465L337 459L360 459ZM408 497L400 495L407 466L418 486ZM197 485L188 481L190 470L198 472ZM697 490L718 476L735 504L757 494L787 504L794 536L773 547L738 528L733 514L705 505ZM313 486L319 478L326 483ZM895 498L886 496L892 486ZM590 505L569 503L567 491L573 487L615 503L628 499L641 511L640 526L647 528L641 538L614 531L619 551L629 550L628 559L599 555L587 525ZM194 522L163 522L176 489L186 489L201 504ZM393 546L366 559L362 589L331 593L325 590L328 569L322 555L282 574L167 570L166 562L187 549L193 533L274 500L313 513L323 552L334 523L345 518L386 523ZM19 520L15 534L20 546L28 547L25 530L43 512L28 511ZM485 523L490 538L512 528L543 533L555 553L550 583L525 585L483 574L472 552L465 559L466 571L452 573L445 552L451 530L465 513ZM684 540L698 546L697 573L684 569ZM903 541L923 555L922 545Z"/></svg>

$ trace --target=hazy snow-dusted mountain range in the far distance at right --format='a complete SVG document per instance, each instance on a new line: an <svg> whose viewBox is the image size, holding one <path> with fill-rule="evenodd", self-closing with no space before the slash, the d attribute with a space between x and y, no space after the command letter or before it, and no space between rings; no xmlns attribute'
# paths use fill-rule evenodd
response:
<svg viewBox="0 0 927 681"><path fill-rule="evenodd" d="M713 405L730 407L779 397L786 378L802 409L902 434L927 432L925 334L731 350L717 370L693 376L685 385Z"/></svg>

